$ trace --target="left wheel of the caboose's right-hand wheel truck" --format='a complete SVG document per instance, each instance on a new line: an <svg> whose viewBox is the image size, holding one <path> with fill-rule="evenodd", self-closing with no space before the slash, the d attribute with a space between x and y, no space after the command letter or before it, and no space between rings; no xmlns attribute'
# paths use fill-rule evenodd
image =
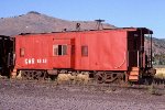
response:
<svg viewBox="0 0 165 110"><path fill-rule="evenodd" d="M102 84L105 82L105 77L106 77L106 73L98 72L95 76L95 79L97 80L98 84Z"/></svg>

